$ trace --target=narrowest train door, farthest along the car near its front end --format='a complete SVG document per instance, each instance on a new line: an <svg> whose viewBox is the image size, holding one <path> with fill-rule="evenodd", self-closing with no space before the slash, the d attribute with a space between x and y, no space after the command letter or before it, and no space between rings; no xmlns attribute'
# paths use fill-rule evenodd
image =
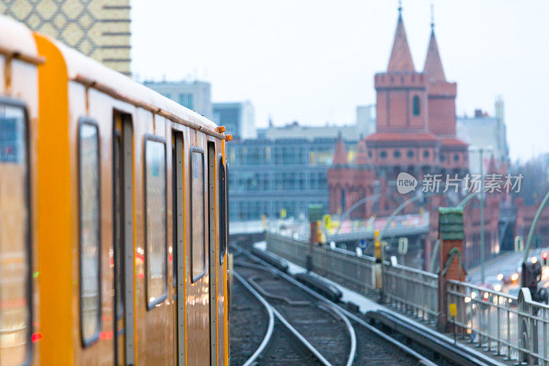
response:
<svg viewBox="0 0 549 366"><path fill-rule="evenodd" d="M215 144L208 142L208 248L209 248L209 303L210 303L210 360L216 365L217 351L217 271L215 260Z"/></svg>

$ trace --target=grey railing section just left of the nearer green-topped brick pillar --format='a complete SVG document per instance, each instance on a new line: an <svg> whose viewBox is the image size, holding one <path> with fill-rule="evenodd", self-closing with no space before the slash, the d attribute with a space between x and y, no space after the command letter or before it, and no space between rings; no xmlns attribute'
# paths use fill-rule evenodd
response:
<svg viewBox="0 0 549 366"><path fill-rule="evenodd" d="M439 276L406 266L385 266L383 294L388 303L406 314L436 322L439 316Z"/></svg>

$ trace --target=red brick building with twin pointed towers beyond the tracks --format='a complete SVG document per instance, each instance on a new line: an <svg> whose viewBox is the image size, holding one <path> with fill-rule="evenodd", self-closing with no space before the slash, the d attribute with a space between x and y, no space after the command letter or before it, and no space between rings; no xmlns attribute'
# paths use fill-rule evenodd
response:
<svg viewBox="0 0 549 366"><path fill-rule="evenodd" d="M340 214L360 199L377 194L379 198L355 209L351 218L388 216L421 190L425 176L450 174L463 178L468 172L467 144L456 138L457 84L446 80L434 25L423 71L416 71L399 10L388 67L375 74L374 85L376 132L360 141L353 161L347 161L340 139L334 163L327 172L332 214ZM415 192L406 195L397 192L400 172L407 172L419 181ZM430 258L436 242L438 207L456 205L463 196L461 190L433 195L425 203L404 209L405 214L416 213L421 205L431 213L423 258Z"/></svg>

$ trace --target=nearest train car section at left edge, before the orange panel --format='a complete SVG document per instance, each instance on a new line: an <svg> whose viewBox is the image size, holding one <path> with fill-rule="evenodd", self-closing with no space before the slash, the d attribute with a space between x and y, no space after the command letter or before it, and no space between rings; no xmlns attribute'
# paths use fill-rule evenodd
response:
<svg viewBox="0 0 549 366"><path fill-rule="evenodd" d="M0 359L38 360L36 210L38 53L30 31L0 16ZM34 341L33 341L34 340Z"/></svg>

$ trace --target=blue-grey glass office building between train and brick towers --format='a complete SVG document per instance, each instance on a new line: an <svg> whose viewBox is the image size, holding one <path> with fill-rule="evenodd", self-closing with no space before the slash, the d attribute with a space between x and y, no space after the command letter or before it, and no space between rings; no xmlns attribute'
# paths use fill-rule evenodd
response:
<svg viewBox="0 0 549 366"><path fill-rule="evenodd" d="M328 208L327 168L336 137L229 141L229 220L307 216L310 204ZM356 141L349 143L352 154Z"/></svg>

